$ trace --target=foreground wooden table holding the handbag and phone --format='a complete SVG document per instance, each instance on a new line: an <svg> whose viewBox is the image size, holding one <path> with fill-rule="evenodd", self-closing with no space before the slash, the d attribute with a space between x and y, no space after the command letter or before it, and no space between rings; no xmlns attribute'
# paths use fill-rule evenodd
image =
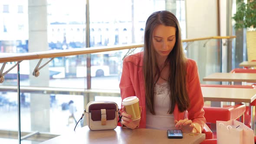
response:
<svg viewBox="0 0 256 144"><path fill-rule="evenodd" d="M114 130L91 131L85 126L40 144L200 144L204 139L205 134L184 133L182 139L168 139L165 130L118 126Z"/></svg>

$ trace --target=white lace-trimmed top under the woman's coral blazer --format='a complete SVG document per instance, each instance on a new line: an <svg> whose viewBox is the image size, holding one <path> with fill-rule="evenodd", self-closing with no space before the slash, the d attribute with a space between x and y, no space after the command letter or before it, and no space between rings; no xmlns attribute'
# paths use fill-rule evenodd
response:
<svg viewBox="0 0 256 144"><path fill-rule="evenodd" d="M174 129L174 115L168 114L170 97L167 82L156 84L154 92L154 110L156 115L152 115L148 109L146 110L146 128Z"/></svg>

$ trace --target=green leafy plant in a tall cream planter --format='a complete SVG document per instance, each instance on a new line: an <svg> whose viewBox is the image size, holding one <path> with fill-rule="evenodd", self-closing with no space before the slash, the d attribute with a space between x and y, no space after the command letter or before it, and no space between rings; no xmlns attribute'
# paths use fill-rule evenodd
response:
<svg viewBox="0 0 256 144"><path fill-rule="evenodd" d="M246 46L248 61L256 59L256 0L238 0L236 14L232 17L235 29L246 28Z"/></svg>

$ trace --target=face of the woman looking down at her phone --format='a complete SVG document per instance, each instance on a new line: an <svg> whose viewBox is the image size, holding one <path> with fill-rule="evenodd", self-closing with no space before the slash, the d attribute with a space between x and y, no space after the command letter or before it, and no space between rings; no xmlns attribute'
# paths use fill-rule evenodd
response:
<svg viewBox="0 0 256 144"><path fill-rule="evenodd" d="M157 58L166 57L174 48L176 41L176 28L173 26L156 26L153 31L153 46Z"/></svg>

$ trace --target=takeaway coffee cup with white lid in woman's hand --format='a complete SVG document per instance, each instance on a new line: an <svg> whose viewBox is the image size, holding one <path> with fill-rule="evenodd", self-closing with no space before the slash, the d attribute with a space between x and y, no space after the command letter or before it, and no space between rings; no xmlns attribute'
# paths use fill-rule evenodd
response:
<svg viewBox="0 0 256 144"><path fill-rule="evenodd" d="M139 99L136 96L131 96L123 99L122 105L125 106L125 111L131 115L133 121L141 118L141 111L139 108Z"/></svg>

